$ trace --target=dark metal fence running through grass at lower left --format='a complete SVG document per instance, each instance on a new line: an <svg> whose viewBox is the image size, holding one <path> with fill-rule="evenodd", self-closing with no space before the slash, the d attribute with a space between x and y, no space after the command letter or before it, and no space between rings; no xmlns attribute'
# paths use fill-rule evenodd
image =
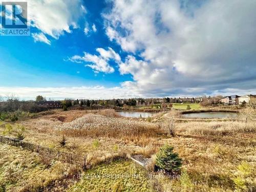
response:
<svg viewBox="0 0 256 192"><path fill-rule="evenodd" d="M66 153L66 152L60 152L57 150L53 150L52 148L43 147L40 145L32 144L29 142L25 142L22 140L18 140L18 139L6 137L6 136L0 136L0 142L7 143L13 146L20 146L32 152L48 155L50 158L54 160L59 160L59 161L63 161L71 164L77 164L77 165L81 165L84 169L86 168L86 157L82 157L79 155Z"/></svg>

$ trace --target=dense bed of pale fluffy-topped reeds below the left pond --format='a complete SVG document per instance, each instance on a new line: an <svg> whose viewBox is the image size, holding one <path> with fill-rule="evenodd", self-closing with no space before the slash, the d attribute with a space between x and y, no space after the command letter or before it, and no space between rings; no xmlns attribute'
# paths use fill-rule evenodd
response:
<svg viewBox="0 0 256 192"><path fill-rule="evenodd" d="M55 130L65 135L90 137L157 136L163 134L161 128L154 123L94 114L57 125Z"/></svg>

